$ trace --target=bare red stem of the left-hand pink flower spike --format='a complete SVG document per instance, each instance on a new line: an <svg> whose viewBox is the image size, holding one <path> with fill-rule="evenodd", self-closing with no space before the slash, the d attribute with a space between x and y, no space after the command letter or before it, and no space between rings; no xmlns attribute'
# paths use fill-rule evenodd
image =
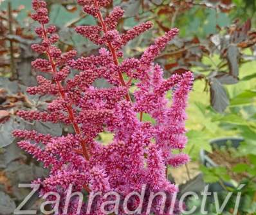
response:
<svg viewBox="0 0 256 215"><path fill-rule="evenodd" d="M44 40L48 40L47 32L46 32L44 24L42 24L42 30L43 30ZM48 58L51 62L51 68L53 70L53 74L57 74L57 66L56 66L55 61L53 60L53 57L51 57L51 55L50 55L50 47L47 48L46 53L47 53ZM58 87L59 94L60 94L61 98L65 100L66 96L65 96L65 92L64 92L64 89L63 89L61 83L59 81L55 81L55 83L57 84L57 87ZM70 119L70 121L73 125L75 133L77 133L77 135L82 136L80 128L77 125L77 123L75 122L75 114L73 112L72 106L71 105L66 105L66 109L68 111L68 116L69 116L69 119ZM88 153L87 148L86 148L86 141L84 139L82 139L80 143L81 143L81 146L82 146L82 153L83 153L85 159L89 160L89 153Z"/></svg>

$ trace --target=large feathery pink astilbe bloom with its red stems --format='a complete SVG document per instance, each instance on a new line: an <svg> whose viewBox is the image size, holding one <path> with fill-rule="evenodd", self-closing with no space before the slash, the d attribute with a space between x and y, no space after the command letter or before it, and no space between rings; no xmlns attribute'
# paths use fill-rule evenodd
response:
<svg viewBox="0 0 256 215"><path fill-rule="evenodd" d="M28 121L66 123L75 131L61 137L36 131L14 131L15 137L26 139L19 142L19 146L50 168L48 178L33 183L41 185L41 195L55 191L64 199L69 184L74 185L75 191L116 191L122 201L125 195L140 192L146 185L146 199L152 191L163 191L170 199L178 189L167 180L166 170L168 166L176 168L189 161L182 150L187 142L185 108L193 75L188 71L164 79L163 70L154 64L154 58L178 34L178 29L156 39L140 58L127 58L119 63L122 46L149 30L152 23L139 24L121 34L115 28L123 15L122 8L114 8L104 19L100 10L111 0L77 2L84 12L98 19L97 26L77 26L75 29L95 44L105 46L99 49L98 55L75 58L75 50L62 53L55 46L59 40L56 27L48 26L46 3L32 1L35 10L32 19L40 24L35 33L42 39L41 44L33 44L32 49L43 55L33 61L32 66L51 74L52 78L47 80L38 76L39 85L28 87L27 91L32 95L51 94L55 99L43 112L20 110L17 115ZM71 69L79 71L73 78L69 78ZM123 78L123 73L128 76L128 81ZM107 80L111 87L93 87L98 78ZM133 80L136 80L134 101L129 92ZM171 104L166 98L169 90L172 91ZM144 113L156 123L143 121ZM102 145L97 141L100 132L113 133L113 141L107 146ZM176 154L174 150L181 153ZM102 198L97 198L90 214L101 214L102 202ZM154 214L160 214L160 205L161 200L156 198L152 205ZM136 197L131 197L128 206L136 209ZM77 200L71 201L68 214L75 214L77 207ZM86 214L86 207L87 203L83 203L80 214ZM64 214L63 202L58 210L56 214ZM119 210L119 214L125 214L123 207ZM178 209L172 211L178 213ZM146 214L144 207L142 214ZM169 214L167 208L165 214Z"/></svg>

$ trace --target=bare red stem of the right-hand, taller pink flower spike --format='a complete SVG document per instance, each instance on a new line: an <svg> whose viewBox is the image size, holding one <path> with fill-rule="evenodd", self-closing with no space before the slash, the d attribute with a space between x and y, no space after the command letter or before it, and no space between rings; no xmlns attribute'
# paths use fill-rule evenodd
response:
<svg viewBox="0 0 256 215"><path fill-rule="evenodd" d="M103 29L104 33L107 33L107 26L105 25L105 21L102 17L102 13L100 12L100 7L98 6L98 2L96 0L94 0L94 4L95 4L96 9L98 10L98 12L97 12L98 20L100 21L102 29ZM118 57L116 55L116 50L114 49L113 44L111 42L107 42L107 46L109 47L109 51L111 52L111 55L113 56L114 64L118 65L119 64ZM123 74L120 71L118 71L118 76L119 76L119 80L120 80L122 86L126 87L126 83L123 79ZM127 94L125 95L125 98L127 101L131 102L131 97L130 97L129 92L127 92Z"/></svg>

